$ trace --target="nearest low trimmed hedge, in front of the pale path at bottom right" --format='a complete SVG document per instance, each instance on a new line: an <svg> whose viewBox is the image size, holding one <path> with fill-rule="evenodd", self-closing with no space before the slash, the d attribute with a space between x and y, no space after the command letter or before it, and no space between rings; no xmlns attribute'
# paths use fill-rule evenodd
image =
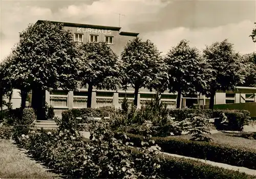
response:
<svg viewBox="0 0 256 179"><path fill-rule="evenodd" d="M137 158L142 154L132 149ZM161 178L255 178L239 171L224 169L200 161L159 154ZM138 163L138 165L141 165Z"/></svg>

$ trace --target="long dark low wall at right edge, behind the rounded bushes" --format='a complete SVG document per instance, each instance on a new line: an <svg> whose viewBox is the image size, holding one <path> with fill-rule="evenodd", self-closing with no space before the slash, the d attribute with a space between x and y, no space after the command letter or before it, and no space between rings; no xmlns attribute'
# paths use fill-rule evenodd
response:
<svg viewBox="0 0 256 179"><path fill-rule="evenodd" d="M215 104L215 109L239 109L248 110L251 118L256 118L256 102L234 103L234 104Z"/></svg>

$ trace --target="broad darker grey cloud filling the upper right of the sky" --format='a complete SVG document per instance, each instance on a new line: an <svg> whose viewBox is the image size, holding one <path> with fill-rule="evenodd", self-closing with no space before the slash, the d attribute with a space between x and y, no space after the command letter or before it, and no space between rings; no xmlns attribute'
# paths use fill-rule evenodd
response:
<svg viewBox="0 0 256 179"><path fill-rule="evenodd" d="M152 21L138 23L131 27L137 31L185 27L189 29L214 28L229 23L239 23L245 19L256 21L256 1L173 1L155 14Z"/></svg>

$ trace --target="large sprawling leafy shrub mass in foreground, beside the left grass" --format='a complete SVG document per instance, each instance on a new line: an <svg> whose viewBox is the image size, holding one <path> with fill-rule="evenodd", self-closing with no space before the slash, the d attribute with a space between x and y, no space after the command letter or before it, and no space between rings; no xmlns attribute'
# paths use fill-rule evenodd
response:
<svg viewBox="0 0 256 179"><path fill-rule="evenodd" d="M91 127L91 140L82 138L76 130L61 130L56 133L36 130L23 136L23 146L34 158L48 167L71 178L152 178L160 167L153 163L157 147L144 147L142 158L133 158L126 151L127 137L116 140L109 130L109 123L96 123ZM147 139L146 142L153 142ZM146 144L142 143L143 145ZM140 160L144 167L134 165Z"/></svg>

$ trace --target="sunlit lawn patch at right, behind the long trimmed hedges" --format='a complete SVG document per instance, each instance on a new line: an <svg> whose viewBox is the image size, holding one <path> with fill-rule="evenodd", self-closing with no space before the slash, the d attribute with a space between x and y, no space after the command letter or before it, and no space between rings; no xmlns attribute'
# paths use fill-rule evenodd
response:
<svg viewBox="0 0 256 179"><path fill-rule="evenodd" d="M218 144L229 144L231 146L256 149L256 140L246 139L248 132L218 132L207 136ZM192 135L175 136L175 138L191 139Z"/></svg>

